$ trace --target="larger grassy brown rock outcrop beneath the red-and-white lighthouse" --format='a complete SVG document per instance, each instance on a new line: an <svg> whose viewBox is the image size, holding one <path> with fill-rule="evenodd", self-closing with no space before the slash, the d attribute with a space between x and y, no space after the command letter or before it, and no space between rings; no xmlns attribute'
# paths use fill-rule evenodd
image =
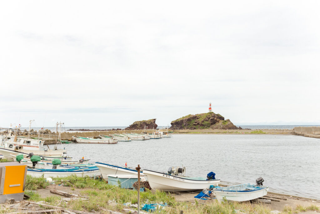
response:
<svg viewBox="0 0 320 214"><path fill-rule="evenodd" d="M187 115L171 122L170 129L242 129L213 112Z"/></svg>

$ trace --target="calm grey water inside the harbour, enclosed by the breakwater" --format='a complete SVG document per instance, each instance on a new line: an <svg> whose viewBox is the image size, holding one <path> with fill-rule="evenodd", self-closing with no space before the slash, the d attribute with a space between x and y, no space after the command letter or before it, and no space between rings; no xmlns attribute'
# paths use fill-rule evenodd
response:
<svg viewBox="0 0 320 214"><path fill-rule="evenodd" d="M277 193L320 199L320 139L296 135L175 134L117 144L64 144L69 156L166 172L185 166L188 176L213 171L222 183L255 183ZM53 145L51 145L52 147Z"/></svg>

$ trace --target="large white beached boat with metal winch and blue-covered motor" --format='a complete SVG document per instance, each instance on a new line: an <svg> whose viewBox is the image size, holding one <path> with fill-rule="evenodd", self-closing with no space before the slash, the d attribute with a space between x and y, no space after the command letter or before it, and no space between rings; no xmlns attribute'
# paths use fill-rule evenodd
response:
<svg viewBox="0 0 320 214"><path fill-rule="evenodd" d="M209 189L211 185L217 186L220 182L220 179L206 180L203 177L170 175L146 169L143 174L147 175L152 189L170 192Z"/></svg>

